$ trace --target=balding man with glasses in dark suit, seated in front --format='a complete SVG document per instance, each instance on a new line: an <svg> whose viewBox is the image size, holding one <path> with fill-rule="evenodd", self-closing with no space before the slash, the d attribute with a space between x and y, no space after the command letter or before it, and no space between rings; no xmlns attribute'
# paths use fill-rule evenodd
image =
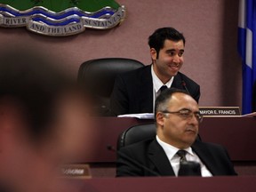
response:
<svg viewBox="0 0 256 192"><path fill-rule="evenodd" d="M180 150L183 160L200 164L203 177L236 175L225 148L196 140L203 116L188 92L167 89L155 108L156 138L121 148L116 176L177 176Z"/></svg>

